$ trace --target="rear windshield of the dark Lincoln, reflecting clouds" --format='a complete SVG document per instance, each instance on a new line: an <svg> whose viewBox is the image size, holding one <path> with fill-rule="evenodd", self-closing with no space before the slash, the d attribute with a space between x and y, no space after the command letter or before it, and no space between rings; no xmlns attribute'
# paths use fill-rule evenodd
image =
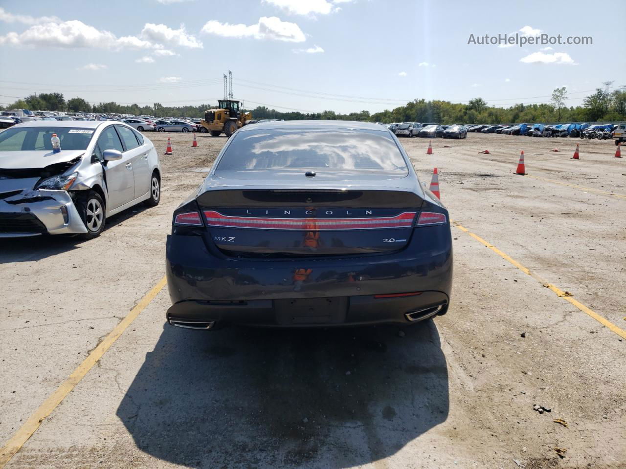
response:
<svg viewBox="0 0 626 469"><path fill-rule="evenodd" d="M408 168L387 131L265 129L237 132L217 171L370 171L406 176Z"/></svg>

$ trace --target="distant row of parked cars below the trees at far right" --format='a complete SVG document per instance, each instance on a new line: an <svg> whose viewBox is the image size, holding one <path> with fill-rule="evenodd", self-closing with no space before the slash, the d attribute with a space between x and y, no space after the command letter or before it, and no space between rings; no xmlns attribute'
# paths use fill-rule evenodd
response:
<svg viewBox="0 0 626 469"><path fill-rule="evenodd" d="M615 139L615 144L617 145L620 141L625 140L625 129L626 124L480 124L470 126L468 132L526 135L531 137L580 137L583 139L597 138L604 140L613 138Z"/></svg>

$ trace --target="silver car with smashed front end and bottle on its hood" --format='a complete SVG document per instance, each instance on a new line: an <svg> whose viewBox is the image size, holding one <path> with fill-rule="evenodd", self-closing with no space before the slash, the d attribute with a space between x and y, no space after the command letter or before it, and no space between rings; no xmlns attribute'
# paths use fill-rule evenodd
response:
<svg viewBox="0 0 626 469"><path fill-rule="evenodd" d="M0 238L95 238L108 216L161 197L152 142L112 121L33 121L0 133Z"/></svg>

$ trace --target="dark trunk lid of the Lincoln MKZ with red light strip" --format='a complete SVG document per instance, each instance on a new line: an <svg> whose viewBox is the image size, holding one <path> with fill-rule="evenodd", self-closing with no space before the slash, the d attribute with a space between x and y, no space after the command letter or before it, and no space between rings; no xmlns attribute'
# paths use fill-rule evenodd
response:
<svg viewBox="0 0 626 469"><path fill-rule="evenodd" d="M223 189L197 197L206 241L237 257L363 255L411 238L423 203L394 189Z"/></svg>

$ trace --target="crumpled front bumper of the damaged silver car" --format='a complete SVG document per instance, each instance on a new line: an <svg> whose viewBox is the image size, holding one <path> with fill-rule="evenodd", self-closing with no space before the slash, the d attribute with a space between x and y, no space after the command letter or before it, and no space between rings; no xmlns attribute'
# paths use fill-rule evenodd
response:
<svg viewBox="0 0 626 469"><path fill-rule="evenodd" d="M0 238L87 233L66 191L23 190L0 199Z"/></svg>

